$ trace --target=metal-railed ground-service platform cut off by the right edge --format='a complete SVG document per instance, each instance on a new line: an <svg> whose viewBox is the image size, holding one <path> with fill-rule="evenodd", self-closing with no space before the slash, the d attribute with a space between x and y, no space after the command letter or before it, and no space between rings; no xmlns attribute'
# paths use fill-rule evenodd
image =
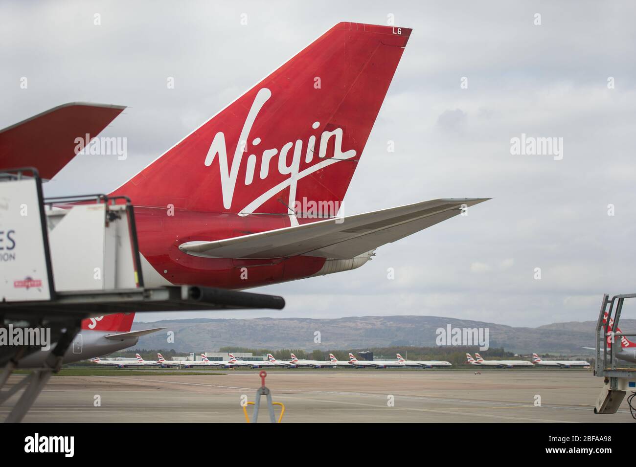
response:
<svg viewBox="0 0 636 467"><path fill-rule="evenodd" d="M614 295L611 299L608 294L603 295L596 326L594 374L604 379L604 386L594 407L595 414L616 414L625 395L631 392L627 400L632 417L636 419L636 409L632 404L636 396L636 368L628 367L616 358L616 354L621 352L621 339L636 336L617 332L623 304L626 299L634 298L636 294Z"/></svg>

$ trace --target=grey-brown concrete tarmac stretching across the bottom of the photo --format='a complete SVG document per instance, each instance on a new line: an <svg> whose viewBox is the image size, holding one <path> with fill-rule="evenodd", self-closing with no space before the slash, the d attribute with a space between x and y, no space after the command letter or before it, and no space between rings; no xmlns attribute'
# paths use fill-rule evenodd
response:
<svg viewBox="0 0 636 467"><path fill-rule="evenodd" d="M118 371L53 376L24 422L244 423L241 403L254 401L261 382L259 370ZM283 423L633 423L626 398L617 414L593 413L602 379L591 370L295 369L270 371L265 384L285 406ZM1 419L16 399L0 406ZM261 403L265 422L264 397Z"/></svg>

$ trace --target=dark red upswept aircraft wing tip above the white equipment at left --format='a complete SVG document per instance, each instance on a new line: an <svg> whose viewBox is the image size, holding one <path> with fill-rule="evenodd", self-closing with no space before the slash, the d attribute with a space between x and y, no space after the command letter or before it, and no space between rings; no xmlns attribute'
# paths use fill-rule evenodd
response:
<svg viewBox="0 0 636 467"><path fill-rule="evenodd" d="M71 102L0 130L0 168L35 167L52 179L76 156L76 139L96 137L126 107Z"/></svg>

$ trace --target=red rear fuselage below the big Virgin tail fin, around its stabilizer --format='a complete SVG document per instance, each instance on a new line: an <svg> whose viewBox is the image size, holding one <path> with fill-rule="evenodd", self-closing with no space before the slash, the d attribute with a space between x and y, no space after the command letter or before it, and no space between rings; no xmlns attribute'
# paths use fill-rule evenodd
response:
<svg viewBox="0 0 636 467"><path fill-rule="evenodd" d="M311 256L229 259L186 254L179 250L182 243L222 240L289 227L289 216L178 210L170 208L171 203L166 201L166 208L135 206L135 222L139 251L156 273L170 283L237 289L260 287L312 276L326 261ZM310 219L304 221L311 222ZM144 274L144 282L147 286L155 285L150 274Z"/></svg>

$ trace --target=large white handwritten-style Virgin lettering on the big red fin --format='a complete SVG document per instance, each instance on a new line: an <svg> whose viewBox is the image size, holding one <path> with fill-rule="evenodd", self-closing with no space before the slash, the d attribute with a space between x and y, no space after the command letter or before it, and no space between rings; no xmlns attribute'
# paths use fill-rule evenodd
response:
<svg viewBox="0 0 636 467"><path fill-rule="evenodd" d="M239 176L239 168L243 160L244 154L247 153L247 139L249 138L249 133L252 130L252 126L254 125L254 121L256 121L256 116L258 112L261 110L265 102L272 97L272 91L268 88L262 88L256 94L254 98L254 102L252 103L251 109L249 109L249 113L247 114L247 118L245 119L245 123L240 132L239 142L236 146L236 150L234 152L234 158L232 159L232 166L228 166L228 155L227 155L227 147L225 142L225 135L223 132L218 132L214 135L214 139L212 140L212 144L210 145L210 149L207 152L207 156L205 156L205 166L211 166L214 160L218 156L219 161L219 172L221 173L221 191L223 193L223 206L226 209L230 209L232 207L232 200L234 197L234 191L237 186L237 178ZM320 126L320 122L316 121L312 125L312 128L317 129ZM259 206L261 206L265 201L269 200L275 194L279 193L282 189L289 187L289 203L287 206L293 206L296 201L296 185L298 184L298 180L307 177L322 168L329 166L331 164L338 163L343 160L351 159L356 156L356 151L354 149L350 149L349 151L342 151L342 128L336 128L335 130L329 132L324 131L320 136L320 146L317 162L314 165L305 168L304 170L300 170L300 159L303 156L303 140L296 139L292 140L284 144L280 149L279 148L266 148L261 152L261 166L259 167L258 173L256 173L256 154L249 154L247 156L247 166L245 171L245 186L249 186L254 182L254 177L259 177L261 180L265 180L270 173L270 161L278 156L278 172L281 175L289 175L283 182L280 182L276 186L271 187L266 190L264 193L259 194L256 198L251 201L247 206L244 206L239 211L240 215L251 214L256 210ZM334 139L334 154L333 158L325 158L327 155L327 147L329 139L333 137ZM314 149L315 149L316 136L311 135L307 141L307 146L305 149L305 163L311 163L314 159ZM261 144L261 138L256 137L252 140L251 147L256 148ZM289 152L292 151L291 161L289 161ZM250 151L251 152L251 151ZM259 149L260 152L260 149Z"/></svg>

